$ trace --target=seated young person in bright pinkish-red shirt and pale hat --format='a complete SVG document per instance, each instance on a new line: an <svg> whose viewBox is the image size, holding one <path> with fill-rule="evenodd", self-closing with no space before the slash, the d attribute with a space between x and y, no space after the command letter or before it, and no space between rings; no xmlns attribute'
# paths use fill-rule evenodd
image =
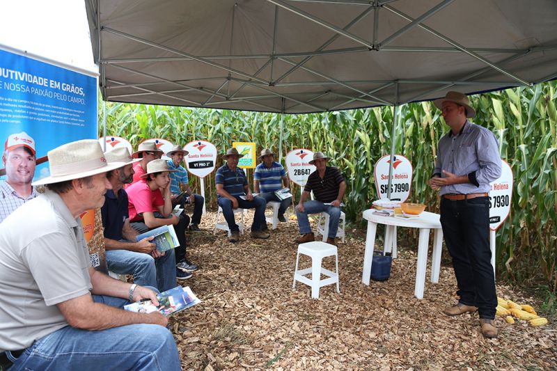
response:
<svg viewBox="0 0 557 371"><path fill-rule="evenodd" d="M186 259L186 227L189 216L172 214L170 196L170 177L168 164L164 159L156 159L147 164L147 172L142 179L126 189L130 225L140 233L160 226L173 225L180 246L174 249L176 277L186 279L191 272L198 269L197 265ZM185 274L184 274L185 273Z"/></svg>

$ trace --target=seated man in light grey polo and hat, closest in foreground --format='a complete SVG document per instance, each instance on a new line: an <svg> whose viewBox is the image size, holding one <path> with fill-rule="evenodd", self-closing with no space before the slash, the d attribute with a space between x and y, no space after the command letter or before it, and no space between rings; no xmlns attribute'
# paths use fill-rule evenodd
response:
<svg viewBox="0 0 557 371"><path fill-rule="evenodd" d="M45 194L0 223L0 354L12 370L180 370L161 313L122 307L150 299L148 287L95 271L79 215L104 203L111 188L99 142L48 152ZM115 352L115 350L118 352Z"/></svg>

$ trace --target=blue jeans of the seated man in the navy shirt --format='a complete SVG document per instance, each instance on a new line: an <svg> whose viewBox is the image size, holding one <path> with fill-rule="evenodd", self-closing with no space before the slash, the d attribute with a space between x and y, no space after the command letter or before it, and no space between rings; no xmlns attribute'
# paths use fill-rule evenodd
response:
<svg viewBox="0 0 557 371"><path fill-rule="evenodd" d="M174 250L168 250L164 256L156 259L146 253L107 250L107 265L114 273L131 274L134 276L134 283L141 286L157 287L159 291L170 290L176 286Z"/></svg>

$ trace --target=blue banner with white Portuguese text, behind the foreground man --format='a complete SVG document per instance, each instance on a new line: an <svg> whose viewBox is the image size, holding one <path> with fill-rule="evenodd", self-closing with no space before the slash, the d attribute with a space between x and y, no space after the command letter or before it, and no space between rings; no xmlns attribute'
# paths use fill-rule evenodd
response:
<svg viewBox="0 0 557 371"><path fill-rule="evenodd" d="M49 150L97 139L97 77L0 49L1 152L22 132L34 141L34 179L49 175Z"/></svg>

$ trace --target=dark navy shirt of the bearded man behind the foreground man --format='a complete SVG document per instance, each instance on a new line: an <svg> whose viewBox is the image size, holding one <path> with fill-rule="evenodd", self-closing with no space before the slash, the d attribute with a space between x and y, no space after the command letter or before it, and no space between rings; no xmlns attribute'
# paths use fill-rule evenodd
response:
<svg viewBox="0 0 557 371"><path fill-rule="evenodd" d="M124 222L130 217L127 211L127 193L124 189L118 191L118 198L112 189L104 194L104 205L100 208L104 237L120 241L123 239L122 228Z"/></svg>

